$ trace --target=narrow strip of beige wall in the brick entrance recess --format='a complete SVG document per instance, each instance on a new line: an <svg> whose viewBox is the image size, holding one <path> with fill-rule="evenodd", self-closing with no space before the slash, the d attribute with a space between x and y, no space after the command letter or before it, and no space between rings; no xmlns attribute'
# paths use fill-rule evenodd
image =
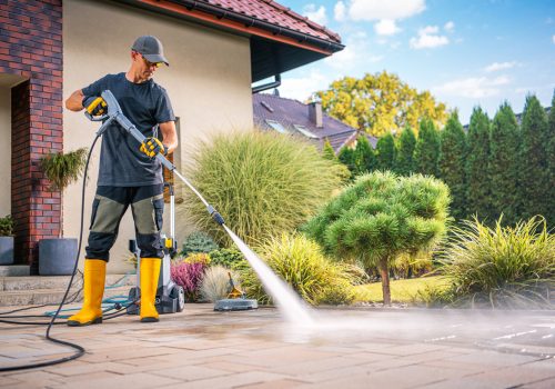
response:
<svg viewBox="0 0 555 389"><path fill-rule="evenodd" d="M0 217L11 213L11 88L0 86Z"/></svg>

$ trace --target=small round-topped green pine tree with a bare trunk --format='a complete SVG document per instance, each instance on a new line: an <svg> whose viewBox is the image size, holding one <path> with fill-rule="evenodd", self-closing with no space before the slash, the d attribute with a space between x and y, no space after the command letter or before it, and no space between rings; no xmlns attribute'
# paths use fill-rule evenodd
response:
<svg viewBox="0 0 555 389"><path fill-rule="evenodd" d="M303 227L327 253L377 269L384 305L390 270L401 255L431 251L446 230L447 187L432 177L360 176Z"/></svg>

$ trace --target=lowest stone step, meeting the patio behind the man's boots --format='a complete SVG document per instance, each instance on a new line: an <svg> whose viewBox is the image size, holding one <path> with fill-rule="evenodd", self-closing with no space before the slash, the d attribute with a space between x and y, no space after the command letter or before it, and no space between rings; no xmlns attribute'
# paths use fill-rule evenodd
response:
<svg viewBox="0 0 555 389"><path fill-rule="evenodd" d="M108 288L104 290L104 299L114 296L129 296L132 286ZM77 290L75 290L77 291ZM32 289L32 290L10 290L0 292L0 307L11 306L39 306L43 303L59 303L63 298L64 289ZM69 297L71 297L70 293ZM81 293L80 293L81 295ZM81 301L81 296L75 302Z"/></svg>

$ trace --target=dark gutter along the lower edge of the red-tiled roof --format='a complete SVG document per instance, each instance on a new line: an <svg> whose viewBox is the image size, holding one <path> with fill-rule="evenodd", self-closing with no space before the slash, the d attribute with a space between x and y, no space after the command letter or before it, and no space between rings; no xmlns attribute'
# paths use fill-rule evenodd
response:
<svg viewBox="0 0 555 389"><path fill-rule="evenodd" d="M341 51L345 47L341 43L331 42L321 38L312 37L307 33L302 33L287 28L274 26L272 23L259 20L253 17L248 17L239 12L233 12L229 10L222 10L220 7L212 6L204 1L199 0L169 0L170 2L185 7L189 11L199 10L218 17L219 19L229 19L235 22L240 22L245 27L258 27L263 30L270 31L273 34L280 34L283 37L293 38L299 42L314 44L321 49L329 51Z"/></svg>

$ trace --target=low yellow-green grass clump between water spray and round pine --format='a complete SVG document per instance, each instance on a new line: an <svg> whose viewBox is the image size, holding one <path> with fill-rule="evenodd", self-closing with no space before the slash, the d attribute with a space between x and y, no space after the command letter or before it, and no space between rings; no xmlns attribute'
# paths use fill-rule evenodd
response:
<svg viewBox="0 0 555 389"><path fill-rule="evenodd" d="M261 248L261 257L311 305L349 303L354 298L352 272L342 263L327 259L315 242L302 235L282 235L270 240ZM243 269L241 280L248 296L262 303L271 301L253 270Z"/></svg>

